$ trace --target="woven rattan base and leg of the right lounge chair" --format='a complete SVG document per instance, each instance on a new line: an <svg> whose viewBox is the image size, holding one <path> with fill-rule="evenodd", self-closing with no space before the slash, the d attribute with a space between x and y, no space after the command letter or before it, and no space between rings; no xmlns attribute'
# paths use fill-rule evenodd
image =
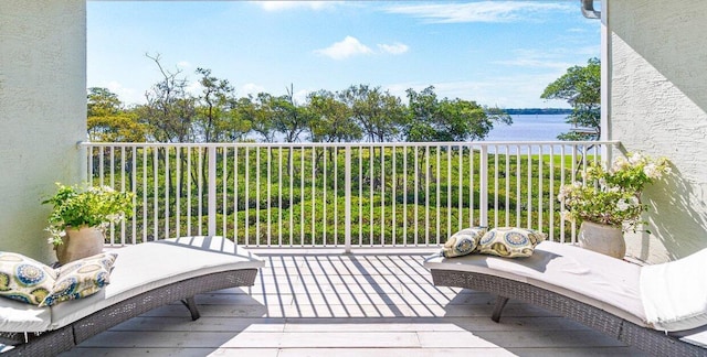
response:
<svg viewBox="0 0 707 357"><path fill-rule="evenodd" d="M574 320L592 329L602 332L627 345L654 356L707 356L707 349L682 342L655 329L639 326L606 311L528 283L483 273L432 269L432 280L437 286L466 288L496 294L498 306L495 321L500 318L505 299L514 299L540 306Z"/></svg>

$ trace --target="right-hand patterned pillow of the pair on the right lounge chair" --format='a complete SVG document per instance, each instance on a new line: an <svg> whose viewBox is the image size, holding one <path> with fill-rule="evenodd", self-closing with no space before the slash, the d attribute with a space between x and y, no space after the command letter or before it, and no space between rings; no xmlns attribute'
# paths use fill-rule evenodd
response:
<svg viewBox="0 0 707 357"><path fill-rule="evenodd" d="M478 251L505 258L530 257L546 235L534 229L503 227L487 231L478 242Z"/></svg>

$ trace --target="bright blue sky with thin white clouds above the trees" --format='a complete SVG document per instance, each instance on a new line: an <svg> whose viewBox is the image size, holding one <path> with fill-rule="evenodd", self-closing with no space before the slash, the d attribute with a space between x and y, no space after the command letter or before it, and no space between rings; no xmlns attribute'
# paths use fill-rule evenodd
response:
<svg viewBox="0 0 707 357"><path fill-rule="evenodd" d="M144 102L160 79L146 53L229 79L239 97L294 87L380 86L500 108L542 100L568 67L600 56L600 22L566 1L89 1L87 85Z"/></svg>

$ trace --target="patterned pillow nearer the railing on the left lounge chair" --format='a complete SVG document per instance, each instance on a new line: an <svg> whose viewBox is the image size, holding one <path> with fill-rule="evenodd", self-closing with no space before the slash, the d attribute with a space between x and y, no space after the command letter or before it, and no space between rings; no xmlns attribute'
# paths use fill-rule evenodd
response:
<svg viewBox="0 0 707 357"><path fill-rule="evenodd" d="M113 252L99 253L59 268L56 283L40 306L51 306L97 293L110 282L110 269L117 256Z"/></svg>

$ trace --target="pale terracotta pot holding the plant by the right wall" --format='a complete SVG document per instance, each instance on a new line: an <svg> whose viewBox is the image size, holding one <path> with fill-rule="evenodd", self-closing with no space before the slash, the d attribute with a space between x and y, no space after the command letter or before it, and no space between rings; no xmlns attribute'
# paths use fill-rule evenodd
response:
<svg viewBox="0 0 707 357"><path fill-rule="evenodd" d="M622 259L626 255L626 242L621 227L583 221L579 228L579 246Z"/></svg>

